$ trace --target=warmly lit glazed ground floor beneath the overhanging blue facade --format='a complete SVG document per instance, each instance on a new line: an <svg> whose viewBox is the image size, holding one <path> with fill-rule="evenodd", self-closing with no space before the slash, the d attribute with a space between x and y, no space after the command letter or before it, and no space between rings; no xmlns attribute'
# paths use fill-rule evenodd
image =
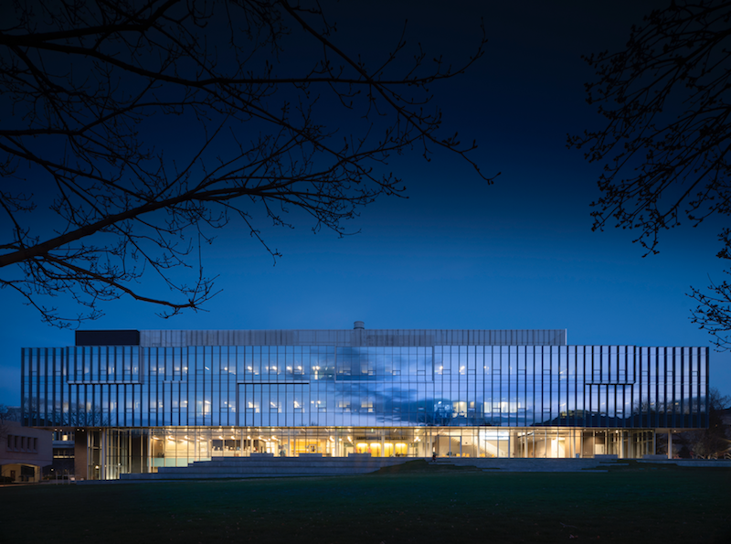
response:
<svg viewBox="0 0 731 544"><path fill-rule="evenodd" d="M587 458L659 453L670 430L563 427L153 427L77 429L77 477L116 479L215 457ZM86 447L84 447L86 445Z"/></svg>

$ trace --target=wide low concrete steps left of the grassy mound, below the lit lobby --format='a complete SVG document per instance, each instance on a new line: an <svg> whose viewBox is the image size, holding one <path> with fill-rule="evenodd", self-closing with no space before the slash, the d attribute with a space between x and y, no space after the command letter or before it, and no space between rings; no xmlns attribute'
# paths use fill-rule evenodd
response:
<svg viewBox="0 0 731 544"><path fill-rule="evenodd" d="M160 467L157 473L120 475L122 481L191 480L225 478L279 478L283 476L345 476L376 472L384 466L413 461L408 457L371 457L351 453L347 457L323 457L301 453L299 457L275 457L253 453L250 457L217 457L180 467Z"/></svg>

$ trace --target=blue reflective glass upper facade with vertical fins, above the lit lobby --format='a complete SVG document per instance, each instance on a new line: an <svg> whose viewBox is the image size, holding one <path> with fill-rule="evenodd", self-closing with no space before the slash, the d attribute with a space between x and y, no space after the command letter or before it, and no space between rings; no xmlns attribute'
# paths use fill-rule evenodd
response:
<svg viewBox="0 0 731 544"><path fill-rule="evenodd" d="M32 426L677 429L707 426L706 367L701 347L68 347L24 349L21 387Z"/></svg>

